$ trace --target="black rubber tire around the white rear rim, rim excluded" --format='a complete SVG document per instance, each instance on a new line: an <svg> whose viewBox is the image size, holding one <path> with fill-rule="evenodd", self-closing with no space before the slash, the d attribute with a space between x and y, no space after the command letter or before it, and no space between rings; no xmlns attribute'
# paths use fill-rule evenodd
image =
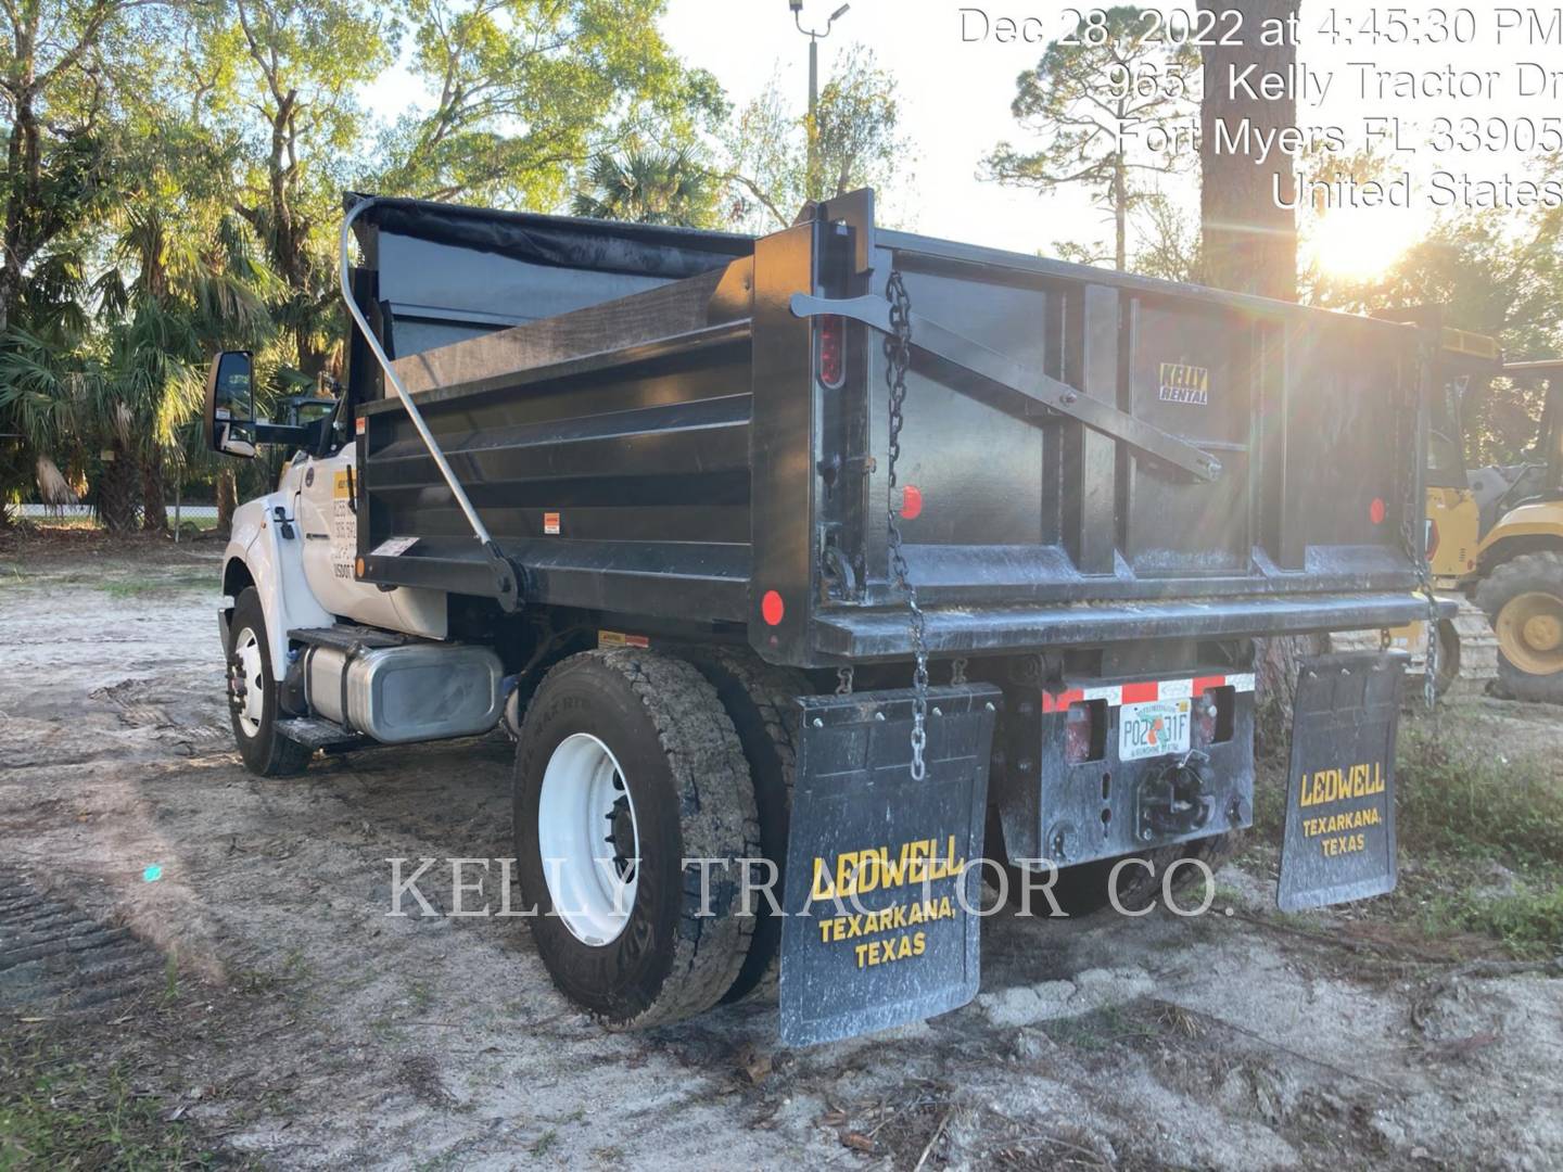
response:
<svg viewBox="0 0 1563 1172"><path fill-rule="evenodd" d="M553 913L539 850L542 777L574 733L624 763L635 803L639 872L630 919L605 945L577 939ZM616 1030L677 1022L716 1005L749 955L733 866L686 858L756 858L760 819L744 750L716 689L691 664L655 652L585 652L556 664L528 705L516 747L514 836L522 906L558 989Z"/></svg>

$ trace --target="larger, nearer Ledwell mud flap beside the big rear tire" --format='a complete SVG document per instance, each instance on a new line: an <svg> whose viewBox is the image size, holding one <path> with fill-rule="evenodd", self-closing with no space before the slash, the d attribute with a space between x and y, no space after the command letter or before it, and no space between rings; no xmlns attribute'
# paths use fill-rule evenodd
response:
<svg viewBox="0 0 1563 1172"><path fill-rule="evenodd" d="M1000 703L988 684L930 688L927 774L914 781L911 691L799 699L782 927L788 1045L922 1020L977 995L975 861Z"/></svg>

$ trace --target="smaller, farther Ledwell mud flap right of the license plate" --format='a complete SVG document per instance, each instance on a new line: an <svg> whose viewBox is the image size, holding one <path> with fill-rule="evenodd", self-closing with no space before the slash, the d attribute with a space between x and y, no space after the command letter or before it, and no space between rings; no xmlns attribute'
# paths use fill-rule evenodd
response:
<svg viewBox="0 0 1563 1172"><path fill-rule="evenodd" d="M1302 663L1286 775L1282 911L1394 891L1394 739L1402 652Z"/></svg>

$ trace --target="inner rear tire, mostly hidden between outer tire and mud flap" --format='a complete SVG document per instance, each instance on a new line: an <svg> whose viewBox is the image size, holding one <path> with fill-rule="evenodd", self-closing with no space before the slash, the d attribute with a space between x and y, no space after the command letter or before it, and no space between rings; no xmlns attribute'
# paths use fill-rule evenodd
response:
<svg viewBox="0 0 1563 1172"><path fill-rule="evenodd" d="M777 867L772 894L780 905L786 889L786 833L792 814L792 769L797 764L799 713L792 700L813 689L799 672L774 667L752 652L700 649L689 653L689 661L716 689L738 730L749 775L755 781L760 847ZM782 917L771 913L771 903L758 892L753 911L755 938L749 958L724 1002L736 1002L756 991L760 995L774 994L780 980Z"/></svg>

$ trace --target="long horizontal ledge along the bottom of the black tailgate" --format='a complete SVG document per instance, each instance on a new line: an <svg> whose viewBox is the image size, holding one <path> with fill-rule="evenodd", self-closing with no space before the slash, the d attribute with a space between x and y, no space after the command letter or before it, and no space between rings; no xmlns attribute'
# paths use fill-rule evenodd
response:
<svg viewBox="0 0 1563 1172"><path fill-rule="evenodd" d="M1441 617L1455 603L1440 600ZM1264 599L1169 599L1069 606L927 608L933 655L1024 652L1121 639L1229 639L1399 627L1427 617L1427 599L1408 591L1297 594ZM817 645L844 659L911 653L903 608L836 611L816 619Z"/></svg>

